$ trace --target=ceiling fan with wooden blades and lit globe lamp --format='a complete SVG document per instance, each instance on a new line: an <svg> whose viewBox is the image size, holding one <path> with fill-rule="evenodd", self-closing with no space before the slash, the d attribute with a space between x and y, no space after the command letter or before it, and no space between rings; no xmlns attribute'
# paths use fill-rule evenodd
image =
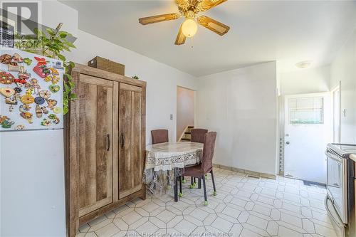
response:
<svg viewBox="0 0 356 237"><path fill-rule="evenodd" d="M179 14L162 14L157 16L149 16L140 18L138 21L142 25L157 23L161 21L171 21L179 19L181 16L185 17L185 21L179 28L179 32L174 44L182 45L185 43L187 37L192 37L197 33L197 23L208 28L210 31L223 36L230 29L229 26L224 25L219 21L209 18L208 16L199 16L197 14L201 11L207 11L214 6L218 6L227 0L175 0Z"/></svg>

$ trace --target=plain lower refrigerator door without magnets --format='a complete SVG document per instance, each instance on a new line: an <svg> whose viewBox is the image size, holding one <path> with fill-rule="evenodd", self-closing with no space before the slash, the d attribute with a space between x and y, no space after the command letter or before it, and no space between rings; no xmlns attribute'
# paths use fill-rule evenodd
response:
<svg viewBox="0 0 356 237"><path fill-rule="evenodd" d="M0 133L0 236L66 236L63 130Z"/></svg>

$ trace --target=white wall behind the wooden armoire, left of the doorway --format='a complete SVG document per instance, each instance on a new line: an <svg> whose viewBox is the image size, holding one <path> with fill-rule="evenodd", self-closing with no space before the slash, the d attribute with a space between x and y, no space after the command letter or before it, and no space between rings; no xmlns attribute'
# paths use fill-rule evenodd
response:
<svg viewBox="0 0 356 237"><path fill-rule="evenodd" d="M59 9L61 14L50 14L49 9ZM78 38L75 41L77 48L66 55L69 60L87 65L90 59L102 56L125 64L125 75L138 75L140 80L147 81L146 142L151 143L150 131L159 128L168 129L169 141L176 141L177 85L197 90L194 76L80 31L78 11L58 1L43 1L42 11L47 26L55 28L63 22L63 30ZM171 114L173 120L169 120Z"/></svg>

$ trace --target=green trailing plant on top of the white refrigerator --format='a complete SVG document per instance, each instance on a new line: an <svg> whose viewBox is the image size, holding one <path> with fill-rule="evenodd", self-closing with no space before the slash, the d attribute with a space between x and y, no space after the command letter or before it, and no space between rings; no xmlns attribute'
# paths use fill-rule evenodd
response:
<svg viewBox="0 0 356 237"><path fill-rule="evenodd" d="M66 115L70 100L75 100L77 95L72 93L75 85L72 76L70 75L70 69L74 68L74 63L72 61L67 61L66 57L63 56L63 53L70 52L70 48L75 48L75 46L72 42L67 40L68 37L72 36L70 33L59 31L61 26L62 24L60 23L56 30L46 28L46 32L35 28L35 37L17 36L16 38L19 40L17 48L20 48L23 51L39 53L43 56L63 61L63 66L65 68L65 73L63 75L63 114ZM27 47L28 42L31 42L31 45L35 47Z"/></svg>

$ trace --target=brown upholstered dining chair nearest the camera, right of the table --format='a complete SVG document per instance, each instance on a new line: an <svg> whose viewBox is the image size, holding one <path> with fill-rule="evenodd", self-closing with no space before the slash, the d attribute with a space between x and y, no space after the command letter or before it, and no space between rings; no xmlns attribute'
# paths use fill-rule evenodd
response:
<svg viewBox="0 0 356 237"><path fill-rule="evenodd" d="M201 179L203 181L204 189L204 206L208 205L208 199L206 196L206 184L205 184L205 174L211 174L211 181L213 182L214 193L216 196L216 187L214 181L213 173L213 157L214 157L214 147L216 140L216 132L208 132L204 135L204 147L203 147L203 157L201 158L201 163L194 165L193 167L184 168L183 176L194 177ZM182 194L182 179L180 182L180 193Z"/></svg>

